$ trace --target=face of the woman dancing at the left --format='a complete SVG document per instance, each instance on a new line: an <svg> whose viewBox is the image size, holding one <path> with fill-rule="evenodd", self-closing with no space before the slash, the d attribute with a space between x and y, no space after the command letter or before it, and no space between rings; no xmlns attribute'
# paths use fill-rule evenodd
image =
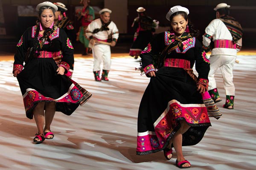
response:
<svg viewBox="0 0 256 170"><path fill-rule="evenodd" d="M43 29L50 28L54 21L54 14L52 9L44 9L44 11L42 11L41 15L39 16L39 20Z"/></svg>

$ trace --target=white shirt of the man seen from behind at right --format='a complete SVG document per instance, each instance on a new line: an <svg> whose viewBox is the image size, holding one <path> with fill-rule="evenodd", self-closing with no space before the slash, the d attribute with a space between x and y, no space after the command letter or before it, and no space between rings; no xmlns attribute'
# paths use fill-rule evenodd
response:
<svg viewBox="0 0 256 170"><path fill-rule="evenodd" d="M227 26L220 20L215 19L209 23L205 28L205 33L212 36L212 40L233 40L230 31L227 29ZM208 47L210 45L211 39L203 35L203 45ZM242 46L242 39L237 42L238 45ZM213 48L211 55L231 55L236 56L239 49L233 48Z"/></svg>

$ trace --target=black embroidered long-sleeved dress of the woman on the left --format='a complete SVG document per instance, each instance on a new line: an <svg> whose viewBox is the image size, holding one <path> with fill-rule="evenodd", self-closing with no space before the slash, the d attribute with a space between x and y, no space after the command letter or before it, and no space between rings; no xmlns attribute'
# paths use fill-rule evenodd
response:
<svg viewBox="0 0 256 170"><path fill-rule="evenodd" d="M23 95L26 116L33 118L33 109L38 102L56 102L56 111L71 115L76 108L91 97L90 92L82 88L66 75L57 74L58 66L65 73L74 62L73 46L64 30L53 27L53 33L41 46L38 36L36 55L26 58L27 51L33 47L38 26L28 28L17 44L13 71L19 70L17 80ZM26 62L25 62L26 61ZM24 65L25 63L25 65Z"/></svg>

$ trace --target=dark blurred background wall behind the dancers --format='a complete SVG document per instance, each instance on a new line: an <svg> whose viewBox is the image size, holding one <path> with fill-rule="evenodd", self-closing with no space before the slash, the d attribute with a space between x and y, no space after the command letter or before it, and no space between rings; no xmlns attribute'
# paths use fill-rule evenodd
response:
<svg viewBox="0 0 256 170"><path fill-rule="evenodd" d="M48 1L64 3L68 8L67 16L73 20L73 26L78 30L79 22L75 17L75 8L81 7L80 0ZM1 44L17 43L26 28L35 24L37 11L33 9L41 2L44 0L0 0ZM90 6L95 9L96 17L99 17L98 12L102 8L109 8L113 11L111 20L119 28L119 42L132 42L134 30L131 24L137 17L136 9L140 6L146 8L148 16L160 22L157 32L169 28L165 16L172 6L181 5L189 8L189 19L202 35L209 22L215 19L213 8L218 3L230 5L230 16L241 23L244 31L243 48L254 48L256 45L254 40L256 37L256 0L90 0ZM1 44L0 48L3 48L4 45Z"/></svg>

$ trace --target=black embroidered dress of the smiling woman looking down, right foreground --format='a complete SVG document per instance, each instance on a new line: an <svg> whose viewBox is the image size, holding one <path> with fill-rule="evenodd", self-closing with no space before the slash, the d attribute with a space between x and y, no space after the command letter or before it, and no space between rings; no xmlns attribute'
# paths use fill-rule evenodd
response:
<svg viewBox="0 0 256 170"><path fill-rule="evenodd" d="M168 45L163 66L151 77L138 113L137 154L155 153L166 148L184 120L191 127L183 134L183 146L201 141L211 125L197 84L208 85L209 60L201 43L184 32L181 39L169 32L157 34L140 54L145 74L155 71L155 56ZM195 82L185 69L195 68Z"/></svg>

